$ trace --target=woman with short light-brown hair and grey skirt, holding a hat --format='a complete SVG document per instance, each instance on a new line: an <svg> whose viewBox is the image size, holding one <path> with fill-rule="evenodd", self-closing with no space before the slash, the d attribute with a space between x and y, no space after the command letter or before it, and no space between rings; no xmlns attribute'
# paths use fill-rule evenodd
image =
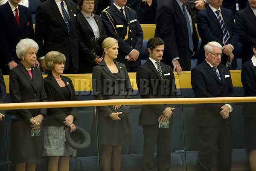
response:
<svg viewBox="0 0 256 171"><path fill-rule="evenodd" d="M63 74L66 58L61 52L48 52L45 55L46 70L49 75L44 78L48 101L76 100L75 89L70 78ZM49 156L48 171L69 171L70 157L76 156L76 150L65 141L65 127L70 132L76 130L76 107L49 108L44 121L44 156Z"/></svg>

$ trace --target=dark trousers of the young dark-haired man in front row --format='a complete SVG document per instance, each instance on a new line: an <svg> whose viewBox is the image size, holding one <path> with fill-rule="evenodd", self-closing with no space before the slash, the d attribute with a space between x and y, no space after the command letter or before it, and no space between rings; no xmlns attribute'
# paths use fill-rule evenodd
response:
<svg viewBox="0 0 256 171"><path fill-rule="evenodd" d="M171 164L171 125L160 129L158 125L143 125L143 169L153 171L154 151L157 145L157 171L169 171Z"/></svg>

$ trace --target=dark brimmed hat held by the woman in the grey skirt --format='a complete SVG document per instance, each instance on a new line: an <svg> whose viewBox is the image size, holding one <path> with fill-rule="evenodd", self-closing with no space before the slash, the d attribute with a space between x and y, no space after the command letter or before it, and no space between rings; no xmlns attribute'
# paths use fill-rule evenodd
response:
<svg viewBox="0 0 256 171"><path fill-rule="evenodd" d="M90 145L90 134L81 127L76 126L76 130L70 133L70 127L65 129L65 137L70 147L79 150Z"/></svg>

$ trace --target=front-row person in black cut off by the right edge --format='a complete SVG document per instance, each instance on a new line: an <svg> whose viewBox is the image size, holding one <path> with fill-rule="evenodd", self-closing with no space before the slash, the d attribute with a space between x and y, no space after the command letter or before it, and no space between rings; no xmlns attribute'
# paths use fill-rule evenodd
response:
<svg viewBox="0 0 256 171"><path fill-rule="evenodd" d="M250 2L250 0L249 0ZM241 81L244 87L244 96L256 96L256 39L252 41L253 57L242 65ZM256 105L244 103L243 116L245 118L245 131L247 150L250 152L250 170L256 171Z"/></svg>

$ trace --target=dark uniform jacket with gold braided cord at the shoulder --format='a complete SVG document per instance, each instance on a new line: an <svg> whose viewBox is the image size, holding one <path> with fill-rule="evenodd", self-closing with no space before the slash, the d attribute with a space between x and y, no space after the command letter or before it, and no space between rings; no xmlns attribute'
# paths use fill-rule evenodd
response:
<svg viewBox="0 0 256 171"><path fill-rule="evenodd" d="M110 14L109 18L106 12ZM110 8L105 9L105 11L103 10L101 17L105 25L107 35L118 40L119 52L116 61L125 64L126 67L138 67L141 65L140 57L137 61L131 62L125 59L125 55L129 55L132 49L136 49L141 52L143 31L137 18L137 13L133 9L125 6L125 14L127 19L116 8L116 6L112 4ZM128 39L124 41L127 33Z"/></svg>

